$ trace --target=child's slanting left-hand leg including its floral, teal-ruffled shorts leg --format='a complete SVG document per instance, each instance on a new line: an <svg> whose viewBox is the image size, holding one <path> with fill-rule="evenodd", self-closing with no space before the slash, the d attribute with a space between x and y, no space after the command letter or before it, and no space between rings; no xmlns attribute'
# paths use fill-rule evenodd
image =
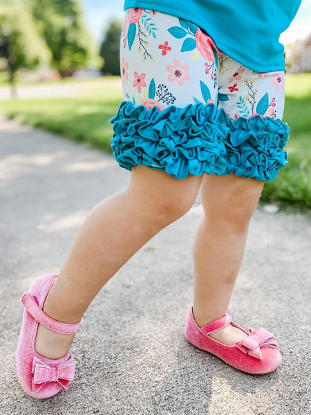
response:
<svg viewBox="0 0 311 415"><path fill-rule="evenodd" d="M149 21L149 31L144 29L144 19ZM169 33L170 28L181 24L185 26L186 23L160 12L127 10L121 39L121 68L124 100L131 100L133 107L142 104L147 109L157 107L158 111L163 111L172 105L183 109L200 100L205 104L207 96L202 95L200 80L204 80L204 91L209 100L214 102L216 99L217 82L211 75L207 77L205 59L191 59L193 50L184 50L182 47L185 39ZM133 30L141 36L133 37ZM195 40L197 30L197 26L189 26L189 37ZM209 61L209 70L214 74L214 53L203 37L200 32L202 53ZM162 50L161 47L164 48L166 44L169 48ZM214 139L207 136L207 131L201 132L197 128L196 114L190 110L191 114L186 114L186 119L181 122L173 111L158 120L157 111L152 113L149 122L147 118L142 122L142 107L131 111L123 107L118 114L114 124L117 133L113 139L113 149L123 167L124 164L129 167L130 162L140 164L135 163L136 159L140 162L144 159L151 166L166 167L171 175L180 173L185 177L187 170L187 174L194 171L199 176L204 164L202 157L200 163L192 158L201 149L214 163L213 151L216 151L217 146ZM170 119L164 125L166 117ZM204 120L200 122L205 124ZM212 129L211 125L209 129ZM191 145L187 137L189 131ZM199 136L202 134L204 139L200 142ZM176 142L171 140L171 136ZM181 154L180 164L178 158ZM48 294L44 304L44 311L48 315L61 322L79 321L112 275L154 234L191 207L201 178L190 175L187 179L176 179L171 175L147 167L134 167L129 189L96 206L82 226ZM42 355L56 358L68 351L72 340L73 335L58 335L39 326L36 349ZM51 354L53 352L54 356Z"/></svg>

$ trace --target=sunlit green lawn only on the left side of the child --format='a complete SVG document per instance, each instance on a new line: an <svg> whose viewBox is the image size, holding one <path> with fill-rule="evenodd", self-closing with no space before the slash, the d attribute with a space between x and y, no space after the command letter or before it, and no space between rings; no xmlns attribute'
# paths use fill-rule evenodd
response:
<svg viewBox="0 0 311 415"><path fill-rule="evenodd" d="M77 82L84 86L79 97L10 100L0 102L0 111L18 122L111 151L110 120L122 100L120 79L109 77Z"/></svg>

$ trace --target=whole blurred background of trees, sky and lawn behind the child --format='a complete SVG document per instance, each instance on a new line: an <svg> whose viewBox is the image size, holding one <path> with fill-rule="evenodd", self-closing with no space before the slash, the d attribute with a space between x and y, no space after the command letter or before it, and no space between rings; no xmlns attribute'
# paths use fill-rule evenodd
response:
<svg viewBox="0 0 311 415"><path fill-rule="evenodd" d="M109 3L109 4L107 4ZM0 0L0 113L111 151L124 0ZM263 200L311 208L311 0L281 35L291 163Z"/></svg>

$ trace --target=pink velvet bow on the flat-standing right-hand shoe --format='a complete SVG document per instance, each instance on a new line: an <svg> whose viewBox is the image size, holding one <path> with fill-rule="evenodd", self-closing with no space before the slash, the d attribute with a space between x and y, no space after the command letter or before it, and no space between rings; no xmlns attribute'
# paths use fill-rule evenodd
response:
<svg viewBox="0 0 311 415"><path fill-rule="evenodd" d="M278 344L274 340L274 335L261 327L257 331L249 329L249 335L247 338L243 338L241 342L236 342L236 347L243 351L243 353L248 353L249 356L263 360L263 355L261 354L261 347L272 347L276 349Z"/></svg>

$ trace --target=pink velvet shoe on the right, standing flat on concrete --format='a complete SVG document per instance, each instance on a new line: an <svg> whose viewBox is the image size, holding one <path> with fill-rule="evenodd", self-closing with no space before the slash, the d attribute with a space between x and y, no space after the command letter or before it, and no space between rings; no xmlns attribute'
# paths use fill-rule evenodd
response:
<svg viewBox="0 0 311 415"><path fill-rule="evenodd" d="M223 329L230 323L248 334L248 337L232 345L211 338L210 333ZM272 333L262 327L257 331L251 328L247 332L232 322L232 317L229 314L225 314L218 320L200 328L194 320L194 312L191 307L186 321L185 335L188 342L194 346L209 351L228 365L248 374L268 374L281 364L281 355L277 350L278 345L274 341Z"/></svg>

